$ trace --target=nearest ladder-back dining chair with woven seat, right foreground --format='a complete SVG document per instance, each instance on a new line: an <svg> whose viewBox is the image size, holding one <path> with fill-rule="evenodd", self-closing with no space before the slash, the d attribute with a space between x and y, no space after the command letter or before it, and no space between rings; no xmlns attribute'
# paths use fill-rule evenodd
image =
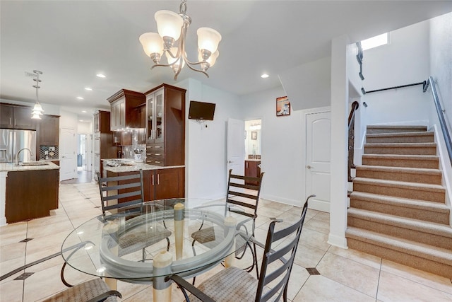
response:
<svg viewBox="0 0 452 302"><path fill-rule="evenodd" d="M198 287L176 274L167 277L179 285L186 301L287 301L287 286L289 284L292 265L295 260L299 238L306 217L308 200L302 209L297 222L290 226L280 226L280 219L272 219L268 226L266 243L263 245L261 277L254 277L237 267L228 267L209 277ZM188 290L191 294L187 294Z"/></svg>

